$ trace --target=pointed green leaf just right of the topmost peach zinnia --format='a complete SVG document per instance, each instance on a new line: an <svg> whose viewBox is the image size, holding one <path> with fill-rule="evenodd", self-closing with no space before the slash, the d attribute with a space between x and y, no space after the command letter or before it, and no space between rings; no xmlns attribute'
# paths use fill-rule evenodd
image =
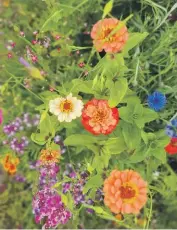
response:
<svg viewBox="0 0 177 230"><path fill-rule="evenodd" d="M123 49L123 55L128 56L129 50L137 46L140 42L142 42L148 36L147 32L144 33L130 33L127 43Z"/></svg>

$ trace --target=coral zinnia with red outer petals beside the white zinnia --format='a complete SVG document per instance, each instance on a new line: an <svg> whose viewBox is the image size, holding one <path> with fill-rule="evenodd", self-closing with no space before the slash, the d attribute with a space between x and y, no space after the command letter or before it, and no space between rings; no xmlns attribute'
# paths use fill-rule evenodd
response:
<svg viewBox="0 0 177 230"><path fill-rule="evenodd" d="M107 100L92 99L82 111L83 126L95 135L111 133L118 122L118 109L110 108Z"/></svg>

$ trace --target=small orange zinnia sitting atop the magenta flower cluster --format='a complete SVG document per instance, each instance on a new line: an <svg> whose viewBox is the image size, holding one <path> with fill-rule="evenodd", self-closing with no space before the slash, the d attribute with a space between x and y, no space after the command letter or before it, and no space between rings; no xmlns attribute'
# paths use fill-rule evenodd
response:
<svg viewBox="0 0 177 230"><path fill-rule="evenodd" d="M60 159L60 152L59 150L50 150L50 149L43 149L41 151L41 155L39 160L42 164L51 164L57 163Z"/></svg>

